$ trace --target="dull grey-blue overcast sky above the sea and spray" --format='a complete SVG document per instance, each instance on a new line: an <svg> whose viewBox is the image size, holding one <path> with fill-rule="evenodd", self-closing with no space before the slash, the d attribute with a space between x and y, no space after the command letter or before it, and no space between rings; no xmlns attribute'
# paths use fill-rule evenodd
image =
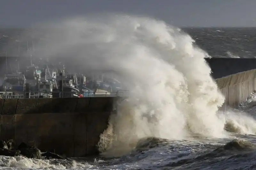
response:
<svg viewBox="0 0 256 170"><path fill-rule="evenodd" d="M1 0L1 27L97 12L142 14L174 26L256 26L256 0Z"/></svg>

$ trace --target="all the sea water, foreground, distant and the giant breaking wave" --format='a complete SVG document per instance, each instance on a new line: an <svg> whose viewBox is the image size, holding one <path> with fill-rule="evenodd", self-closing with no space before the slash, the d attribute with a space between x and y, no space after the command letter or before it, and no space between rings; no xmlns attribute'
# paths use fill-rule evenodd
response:
<svg viewBox="0 0 256 170"><path fill-rule="evenodd" d="M256 168L256 95L241 107L219 110L224 98L204 62L207 56L256 56L254 28L180 29L126 15L38 25L43 26L33 35L0 32L2 51L15 49L16 40L26 46L32 37L40 57L70 56L80 68L114 70L130 98L101 134L101 155L72 161L0 156L2 169Z"/></svg>

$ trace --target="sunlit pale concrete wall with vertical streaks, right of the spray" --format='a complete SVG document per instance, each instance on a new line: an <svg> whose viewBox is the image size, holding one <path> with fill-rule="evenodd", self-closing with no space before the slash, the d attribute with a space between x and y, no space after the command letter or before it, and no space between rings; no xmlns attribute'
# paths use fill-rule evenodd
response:
<svg viewBox="0 0 256 170"><path fill-rule="evenodd" d="M217 78L216 83L225 96L225 105L237 107L256 90L256 69Z"/></svg>

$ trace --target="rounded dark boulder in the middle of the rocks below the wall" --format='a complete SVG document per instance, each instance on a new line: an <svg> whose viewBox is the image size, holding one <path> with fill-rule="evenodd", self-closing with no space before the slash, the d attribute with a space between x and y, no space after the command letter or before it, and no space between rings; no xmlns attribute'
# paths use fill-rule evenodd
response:
<svg viewBox="0 0 256 170"><path fill-rule="evenodd" d="M22 142L18 149L20 150L20 154L26 156L27 158L41 159L41 151L36 147L31 147Z"/></svg>

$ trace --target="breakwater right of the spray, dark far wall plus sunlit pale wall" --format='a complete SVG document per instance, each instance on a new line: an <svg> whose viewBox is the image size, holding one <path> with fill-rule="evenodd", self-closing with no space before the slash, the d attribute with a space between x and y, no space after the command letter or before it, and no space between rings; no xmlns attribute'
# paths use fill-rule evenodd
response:
<svg viewBox="0 0 256 170"><path fill-rule="evenodd" d="M237 107L256 90L255 58L206 58L212 77L225 96L223 107Z"/></svg>

